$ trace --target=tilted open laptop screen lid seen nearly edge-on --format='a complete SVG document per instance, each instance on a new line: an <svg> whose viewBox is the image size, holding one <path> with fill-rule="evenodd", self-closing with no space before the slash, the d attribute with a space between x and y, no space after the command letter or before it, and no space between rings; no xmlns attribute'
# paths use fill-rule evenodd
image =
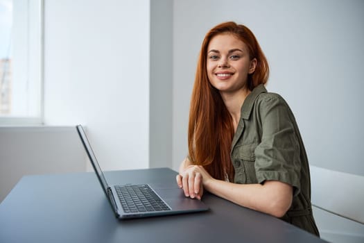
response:
<svg viewBox="0 0 364 243"><path fill-rule="evenodd" d="M100 181L100 183L103 187L103 191L105 192L105 194L107 196L107 188L109 188L109 185L107 185L105 176L103 175L103 171L101 170L100 165L98 165L96 156L94 154L94 151L92 151L92 147L89 144L89 140L87 139L85 130L83 129L83 126L81 126L81 125L77 125L76 128L77 128L78 134L81 137L83 145L85 146L87 155L89 156L89 160L91 160L92 167L94 167L94 170L96 171L98 181Z"/></svg>

